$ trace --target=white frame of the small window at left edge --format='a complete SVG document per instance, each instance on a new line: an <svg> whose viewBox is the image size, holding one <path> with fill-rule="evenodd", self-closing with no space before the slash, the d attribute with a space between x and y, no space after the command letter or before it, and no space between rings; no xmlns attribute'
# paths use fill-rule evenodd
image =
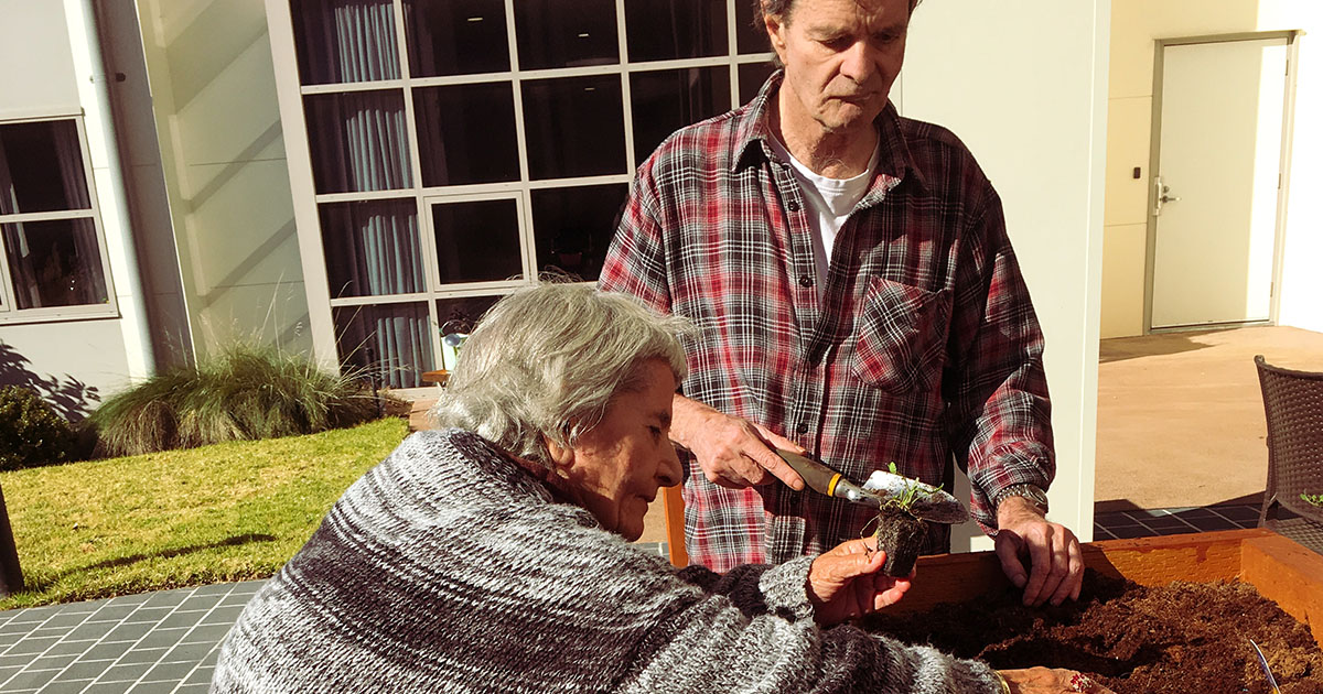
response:
<svg viewBox="0 0 1323 694"><path fill-rule="evenodd" d="M22 222L49 222L60 219L91 219L97 237L97 251L101 256L101 272L106 283L106 303L81 304L65 307L19 308L13 292L13 278L9 270L9 252L0 238L0 325L20 325L29 323L57 323L70 320L106 319L119 316L119 304L115 297L115 284L110 274L110 252L106 247L106 230L101 221L101 205L97 200L97 182L93 178L91 152L87 149L87 130L82 112L50 112L42 115L3 119L0 127L17 126L22 123L53 123L57 120L73 120L78 134L78 152L82 156L83 184L87 186L86 209L30 212L19 214L0 214L0 225ZM13 163L9 164L13 169ZM3 231L0 231L3 234Z"/></svg>

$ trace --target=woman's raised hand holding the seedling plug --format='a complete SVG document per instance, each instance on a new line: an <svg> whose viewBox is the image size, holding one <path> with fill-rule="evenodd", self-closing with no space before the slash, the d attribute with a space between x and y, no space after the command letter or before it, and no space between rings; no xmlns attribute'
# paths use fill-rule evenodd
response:
<svg viewBox="0 0 1323 694"><path fill-rule="evenodd" d="M820 627L877 612L893 605L910 588L914 572L906 578L878 574L886 553L876 538L851 539L814 559L808 570L808 600Z"/></svg>

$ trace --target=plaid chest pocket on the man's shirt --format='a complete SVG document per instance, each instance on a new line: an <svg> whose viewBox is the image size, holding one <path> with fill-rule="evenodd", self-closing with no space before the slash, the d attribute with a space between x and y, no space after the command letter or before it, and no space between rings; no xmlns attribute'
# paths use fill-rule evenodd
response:
<svg viewBox="0 0 1323 694"><path fill-rule="evenodd" d="M937 387L951 319L951 289L930 292L873 278L861 307L851 364L855 375L894 395Z"/></svg>

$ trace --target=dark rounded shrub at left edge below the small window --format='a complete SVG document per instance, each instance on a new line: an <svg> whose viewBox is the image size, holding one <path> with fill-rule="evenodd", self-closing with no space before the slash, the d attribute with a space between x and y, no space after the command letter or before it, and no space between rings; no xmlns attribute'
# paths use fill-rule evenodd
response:
<svg viewBox="0 0 1323 694"><path fill-rule="evenodd" d="M32 389L0 387L0 469L75 460L77 445L69 422Z"/></svg>

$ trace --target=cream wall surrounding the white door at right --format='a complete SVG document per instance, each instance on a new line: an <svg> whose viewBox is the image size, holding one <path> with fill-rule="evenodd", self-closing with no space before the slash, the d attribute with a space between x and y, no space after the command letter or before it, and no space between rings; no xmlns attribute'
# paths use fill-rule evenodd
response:
<svg viewBox="0 0 1323 694"><path fill-rule="evenodd" d="M1312 46L1323 32L1323 7L1299 0L1113 0L1111 74L1107 90L1107 171L1102 271L1102 337L1144 330L1144 263L1147 254L1148 171L1154 46L1158 38L1241 32L1304 29L1295 66L1295 141L1278 323L1323 330L1323 274L1310 258L1323 256L1318 229L1323 201L1304 190L1323 185L1323 151L1316 127L1323 122L1323 62ZM1306 152L1314 152L1312 156ZM1135 180L1132 171L1140 167ZM1310 231L1310 230L1314 231ZM1312 254L1312 255L1310 255Z"/></svg>

